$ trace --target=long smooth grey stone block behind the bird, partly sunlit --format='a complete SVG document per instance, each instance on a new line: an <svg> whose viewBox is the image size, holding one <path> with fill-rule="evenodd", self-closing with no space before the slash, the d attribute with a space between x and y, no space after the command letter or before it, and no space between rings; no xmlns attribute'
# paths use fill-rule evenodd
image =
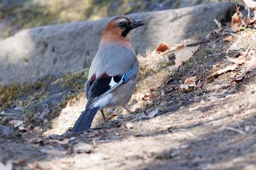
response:
<svg viewBox="0 0 256 170"><path fill-rule="evenodd" d="M226 20L229 11L229 3L218 3L129 15L146 20L145 26L134 31L132 45L136 53L146 53L159 42L181 42L217 28L214 19ZM0 85L89 67L111 19L31 28L4 39L0 42Z"/></svg>

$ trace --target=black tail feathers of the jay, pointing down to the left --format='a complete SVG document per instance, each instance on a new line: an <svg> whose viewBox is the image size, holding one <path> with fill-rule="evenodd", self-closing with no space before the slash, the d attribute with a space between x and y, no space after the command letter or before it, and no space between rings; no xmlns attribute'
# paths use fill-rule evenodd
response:
<svg viewBox="0 0 256 170"><path fill-rule="evenodd" d="M98 109L99 107L94 107L83 111L78 120L75 122L75 125L71 131L81 132L87 131L89 128L91 128L92 120L94 120L94 116L96 115Z"/></svg>

